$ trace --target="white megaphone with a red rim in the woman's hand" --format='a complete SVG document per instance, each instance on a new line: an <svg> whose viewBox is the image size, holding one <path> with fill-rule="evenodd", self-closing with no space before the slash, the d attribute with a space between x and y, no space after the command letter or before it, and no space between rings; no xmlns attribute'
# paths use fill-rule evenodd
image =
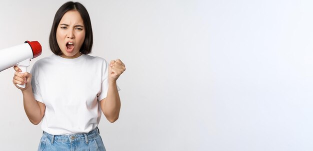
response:
<svg viewBox="0 0 313 151"><path fill-rule="evenodd" d="M25 41L23 44L0 50L0 72L18 66L22 73L27 72L30 59L41 54L41 45L38 41ZM24 85L18 85L25 88Z"/></svg>

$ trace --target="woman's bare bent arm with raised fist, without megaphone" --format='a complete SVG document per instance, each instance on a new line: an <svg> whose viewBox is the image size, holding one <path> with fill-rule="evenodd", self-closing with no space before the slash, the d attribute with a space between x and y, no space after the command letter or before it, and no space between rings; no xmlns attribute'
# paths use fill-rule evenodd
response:
<svg viewBox="0 0 313 151"><path fill-rule="evenodd" d="M125 71L125 65L119 60L112 60L108 67L108 90L106 98L100 101L101 110L106 119L113 123L118 119L120 99L116 80Z"/></svg>

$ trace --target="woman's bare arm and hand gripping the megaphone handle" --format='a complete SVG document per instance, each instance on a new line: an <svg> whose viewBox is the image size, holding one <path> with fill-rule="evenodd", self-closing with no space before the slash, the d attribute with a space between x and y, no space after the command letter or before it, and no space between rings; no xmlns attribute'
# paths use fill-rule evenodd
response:
<svg viewBox="0 0 313 151"><path fill-rule="evenodd" d="M24 110L25 113L29 119L29 121L37 125L40 123L44 111L45 111L45 105L41 102L38 102L35 100L32 89L31 89L31 74L28 72L20 73L20 69L16 66L14 66L14 70L16 71L13 77L13 84L16 86L16 84L26 84L25 88L20 88L16 86L18 89L21 90L23 94L23 104L24 104Z"/></svg>

